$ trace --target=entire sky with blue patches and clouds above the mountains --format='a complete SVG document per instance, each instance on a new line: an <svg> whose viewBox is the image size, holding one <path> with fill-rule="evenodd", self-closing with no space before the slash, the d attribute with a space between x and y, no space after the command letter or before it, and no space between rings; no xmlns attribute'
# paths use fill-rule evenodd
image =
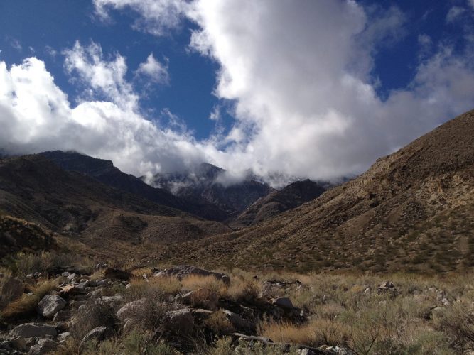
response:
<svg viewBox="0 0 474 355"><path fill-rule="evenodd" d="M0 150L362 173L474 109L474 0L0 1Z"/></svg>

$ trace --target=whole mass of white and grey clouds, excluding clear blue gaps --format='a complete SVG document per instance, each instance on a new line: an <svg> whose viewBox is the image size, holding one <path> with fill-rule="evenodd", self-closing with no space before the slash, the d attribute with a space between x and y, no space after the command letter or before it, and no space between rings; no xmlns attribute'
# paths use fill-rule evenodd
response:
<svg viewBox="0 0 474 355"><path fill-rule="evenodd" d="M41 60L0 63L0 82L7 83L0 87L0 139L12 151L76 149L137 175L208 161L234 175L250 169L269 180L277 173L331 179L362 172L474 107L472 44L455 52L438 43L427 53L428 36L413 53L419 63L411 82L377 94L375 54L406 33L396 7L364 9L351 0L95 5L103 18L135 11L136 28L153 35L182 26L183 18L193 21L190 49L219 64L214 94L234 103L232 129L196 141L185 129L159 126L141 114L124 79L125 58L107 61L98 44L76 43L65 51L65 70L83 87L75 107ZM162 68L151 55L137 72L163 77Z"/></svg>

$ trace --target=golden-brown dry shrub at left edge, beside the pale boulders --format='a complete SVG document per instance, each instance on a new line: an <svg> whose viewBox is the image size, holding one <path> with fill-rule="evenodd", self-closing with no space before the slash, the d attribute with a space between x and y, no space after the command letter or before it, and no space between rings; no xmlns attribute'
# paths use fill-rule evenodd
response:
<svg viewBox="0 0 474 355"><path fill-rule="evenodd" d="M58 279L40 280L31 287L33 295L23 295L6 306L1 312L1 318L6 321L22 320L36 313L36 307L41 299L58 288Z"/></svg>

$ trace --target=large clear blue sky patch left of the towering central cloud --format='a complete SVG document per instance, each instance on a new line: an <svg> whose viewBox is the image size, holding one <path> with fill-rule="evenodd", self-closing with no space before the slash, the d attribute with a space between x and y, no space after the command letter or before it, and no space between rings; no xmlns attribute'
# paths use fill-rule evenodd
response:
<svg viewBox="0 0 474 355"><path fill-rule="evenodd" d="M31 55L41 58L55 82L74 99L77 89L68 82L70 77L63 69L61 52L72 48L76 40L85 44L92 40L102 46L104 53L124 55L130 69L129 79L133 77L132 70L150 53L158 60L168 58L170 84L147 88L151 92L142 95L142 107L152 109L153 117L161 116L160 111L168 108L187 122L197 138L207 137L214 129L208 116L218 102L212 95L218 67L209 58L187 50L190 28L195 26L185 21L180 30L157 38L134 31L134 18L134 14L117 12L113 21L104 23L95 16L89 0L1 1L0 60L11 65ZM51 50L57 55L51 55Z"/></svg>

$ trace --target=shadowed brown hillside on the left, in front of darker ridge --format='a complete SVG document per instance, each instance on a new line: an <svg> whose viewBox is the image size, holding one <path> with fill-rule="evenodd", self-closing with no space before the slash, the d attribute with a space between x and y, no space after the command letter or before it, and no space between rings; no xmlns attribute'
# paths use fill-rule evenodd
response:
<svg viewBox="0 0 474 355"><path fill-rule="evenodd" d="M0 160L0 210L114 257L127 255L133 245L140 246L134 249L139 255L230 230L63 170L43 155Z"/></svg>

